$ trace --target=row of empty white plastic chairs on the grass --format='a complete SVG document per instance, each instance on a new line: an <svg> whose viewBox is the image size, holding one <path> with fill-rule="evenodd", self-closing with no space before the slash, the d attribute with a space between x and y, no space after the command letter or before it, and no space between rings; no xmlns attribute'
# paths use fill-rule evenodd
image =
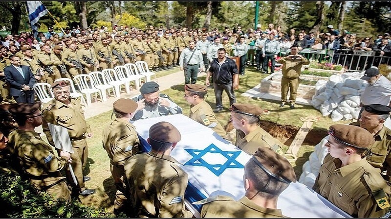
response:
<svg viewBox="0 0 391 219"><path fill-rule="evenodd" d="M134 83L136 90L140 90L142 81L151 81L151 76L156 74L151 72L145 61L136 61L135 64L127 63L123 66L116 66L114 69L104 69L102 72L90 72L88 74L79 74L69 78L59 78L55 81L66 80L70 82L70 96L80 98L87 106L91 105L91 96L95 98L99 95L101 101L107 101L107 94L110 92L119 97L122 86L125 87L126 93L130 93L130 83ZM75 84L73 83L75 82ZM48 83L36 83L34 91L37 93L41 102L47 103L54 98L53 92ZM86 99L84 98L86 96ZM87 100L87 101L86 101Z"/></svg>

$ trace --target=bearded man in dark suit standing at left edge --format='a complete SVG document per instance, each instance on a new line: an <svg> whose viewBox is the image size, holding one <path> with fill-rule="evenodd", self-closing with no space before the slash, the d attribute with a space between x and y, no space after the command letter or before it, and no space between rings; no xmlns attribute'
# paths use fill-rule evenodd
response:
<svg viewBox="0 0 391 219"><path fill-rule="evenodd" d="M21 65L21 59L16 55L11 55L9 60L11 65L4 69L4 76L10 94L18 103L34 103L35 77L30 67Z"/></svg>

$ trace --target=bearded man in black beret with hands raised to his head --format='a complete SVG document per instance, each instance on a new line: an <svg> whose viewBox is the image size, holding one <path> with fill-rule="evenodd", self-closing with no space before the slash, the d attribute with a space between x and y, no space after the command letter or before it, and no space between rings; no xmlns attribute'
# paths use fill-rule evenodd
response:
<svg viewBox="0 0 391 219"><path fill-rule="evenodd" d="M160 93L159 85L154 81L145 82L140 88L140 93L138 97L133 98L138 104L138 111L132 121L182 113L182 108L167 94Z"/></svg>

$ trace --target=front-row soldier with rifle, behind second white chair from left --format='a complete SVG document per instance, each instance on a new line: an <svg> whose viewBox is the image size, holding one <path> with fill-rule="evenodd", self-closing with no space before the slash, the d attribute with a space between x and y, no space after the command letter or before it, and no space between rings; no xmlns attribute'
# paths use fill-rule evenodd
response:
<svg viewBox="0 0 391 219"><path fill-rule="evenodd" d="M73 79L76 75L79 75L83 71L83 67L81 66L80 57L77 55L77 44L71 43L69 44L70 52L66 55L62 55L62 61L66 66L66 70L70 74Z"/></svg>

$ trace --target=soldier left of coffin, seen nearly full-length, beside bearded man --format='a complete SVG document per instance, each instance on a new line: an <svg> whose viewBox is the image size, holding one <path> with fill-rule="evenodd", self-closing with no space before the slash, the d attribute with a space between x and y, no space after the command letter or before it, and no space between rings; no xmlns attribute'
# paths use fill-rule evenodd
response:
<svg viewBox="0 0 391 219"><path fill-rule="evenodd" d="M139 151L140 140L135 127L129 122L135 114L137 103L130 99L118 99L113 103L115 120L103 131L103 147L110 159L111 176L117 188L114 201L114 214L124 210L127 200L123 186L124 165L128 159Z"/></svg>

